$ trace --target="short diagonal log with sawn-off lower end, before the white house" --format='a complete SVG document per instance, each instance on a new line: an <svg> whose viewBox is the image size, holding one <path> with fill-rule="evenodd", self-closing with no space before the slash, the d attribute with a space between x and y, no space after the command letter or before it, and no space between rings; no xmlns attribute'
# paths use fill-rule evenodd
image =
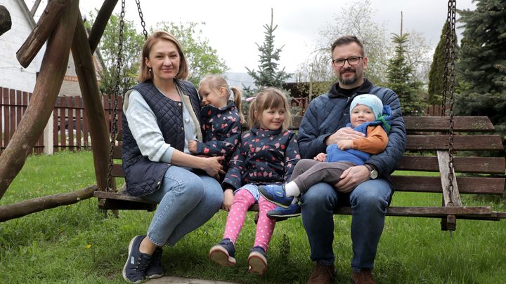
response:
<svg viewBox="0 0 506 284"><path fill-rule="evenodd" d="M37 25L27 37L25 43L16 52L16 57L22 67L28 67L37 53L39 53L41 47L44 46L44 43L56 25L60 22L63 11L69 2L70 0L53 0L48 2L44 13L39 18L39 22L37 22Z"/></svg>

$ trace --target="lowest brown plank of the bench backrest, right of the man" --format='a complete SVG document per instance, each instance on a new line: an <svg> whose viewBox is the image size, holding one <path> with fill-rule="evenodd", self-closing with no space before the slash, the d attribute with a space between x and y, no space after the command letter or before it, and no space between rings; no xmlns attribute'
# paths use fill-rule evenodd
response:
<svg viewBox="0 0 506 284"><path fill-rule="evenodd" d="M439 177L416 177L392 175L395 191L436 192L441 193ZM502 177L457 177L460 194L502 194L505 179Z"/></svg>

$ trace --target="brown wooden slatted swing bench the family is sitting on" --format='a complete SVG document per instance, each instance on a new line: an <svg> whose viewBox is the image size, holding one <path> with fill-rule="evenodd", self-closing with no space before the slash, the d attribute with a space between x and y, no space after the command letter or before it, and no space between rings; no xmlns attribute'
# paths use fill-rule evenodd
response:
<svg viewBox="0 0 506 284"><path fill-rule="evenodd" d="M463 206L460 194L500 196L505 190L504 148L500 135L493 133L493 125L486 116L455 116L453 139L453 189L448 189L449 135L448 116L406 116L408 133L406 153L396 170L403 175L392 175L395 191L442 193L438 207L397 207L387 209L387 216L441 218L441 229L455 230L456 219L500 220L506 212L495 212L488 206ZM294 129L300 119L295 118ZM484 134L487 133L487 134ZM121 135L119 135L121 136ZM121 137L119 137L121 140ZM499 153L480 156L480 153ZM419 153L422 153L421 156ZM458 155L465 154L465 156ZM113 157L121 159L121 146L114 149ZM420 176L420 172L439 172L440 177ZM396 172L398 173L398 172ZM414 174L414 175L413 175ZM123 177L121 165L112 166L113 177ZM155 210L156 204L142 198L116 192L95 191L99 207L105 210ZM395 203L395 194L394 194ZM257 211L253 205L250 211ZM351 208L339 208L335 214L351 215Z"/></svg>

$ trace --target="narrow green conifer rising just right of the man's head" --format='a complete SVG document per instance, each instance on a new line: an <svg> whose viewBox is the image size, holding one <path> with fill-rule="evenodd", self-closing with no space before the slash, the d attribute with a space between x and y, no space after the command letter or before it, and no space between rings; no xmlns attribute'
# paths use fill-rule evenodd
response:
<svg viewBox="0 0 506 284"><path fill-rule="evenodd" d="M408 36L409 34L392 36L396 48L394 58L388 64L387 87L397 93L405 116L421 116L425 109L420 95L422 82L413 76L413 67L406 62L404 46L409 41Z"/></svg>

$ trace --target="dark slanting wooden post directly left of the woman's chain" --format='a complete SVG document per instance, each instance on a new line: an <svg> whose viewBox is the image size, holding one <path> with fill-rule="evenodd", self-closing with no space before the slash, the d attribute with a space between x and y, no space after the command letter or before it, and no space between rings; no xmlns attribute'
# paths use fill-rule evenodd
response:
<svg viewBox="0 0 506 284"><path fill-rule="evenodd" d="M81 19L79 13L79 19ZM84 110L88 117L93 147L93 163L99 190L107 187L110 142L108 128L105 125L105 112L102 105L100 90L96 79L95 65L91 58L91 50L86 37L86 29L82 20L77 21L72 40L72 58L76 67L79 88L84 101ZM115 181L111 182L112 189L115 189Z"/></svg>

